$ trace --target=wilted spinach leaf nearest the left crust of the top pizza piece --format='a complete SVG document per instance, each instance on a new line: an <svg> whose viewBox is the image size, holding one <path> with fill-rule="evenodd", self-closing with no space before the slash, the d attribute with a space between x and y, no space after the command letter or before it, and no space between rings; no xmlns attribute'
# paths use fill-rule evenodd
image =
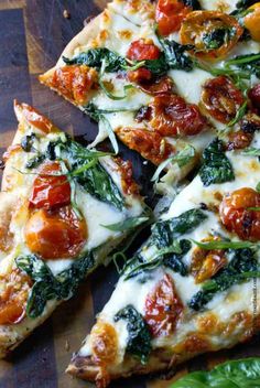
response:
<svg viewBox="0 0 260 388"><path fill-rule="evenodd" d="M106 62L106 72L113 73L122 69L126 66L126 60L117 53L106 48L90 48L84 53L76 55L74 58L68 60L63 56L63 61L67 65L87 65L100 69L104 61Z"/></svg>

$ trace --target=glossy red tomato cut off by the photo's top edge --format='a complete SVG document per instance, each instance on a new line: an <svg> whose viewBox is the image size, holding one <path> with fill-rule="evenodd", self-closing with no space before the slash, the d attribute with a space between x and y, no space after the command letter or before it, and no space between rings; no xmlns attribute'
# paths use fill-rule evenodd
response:
<svg viewBox="0 0 260 388"><path fill-rule="evenodd" d="M180 30L183 20L192 12L182 0L159 0L155 20L160 35L166 36Z"/></svg>

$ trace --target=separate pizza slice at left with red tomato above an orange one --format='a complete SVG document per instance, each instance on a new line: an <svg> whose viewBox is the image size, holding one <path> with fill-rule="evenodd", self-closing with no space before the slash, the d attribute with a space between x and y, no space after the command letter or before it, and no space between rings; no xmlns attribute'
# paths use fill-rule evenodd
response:
<svg viewBox="0 0 260 388"><path fill-rule="evenodd" d="M0 356L147 219L128 162L88 151L25 104L15 114L0 193Z"/></svg>

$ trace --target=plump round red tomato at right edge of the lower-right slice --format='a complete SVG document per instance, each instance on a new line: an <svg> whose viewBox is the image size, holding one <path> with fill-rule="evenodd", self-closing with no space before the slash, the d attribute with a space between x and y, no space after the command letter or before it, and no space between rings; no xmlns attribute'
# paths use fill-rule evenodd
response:
<svg viewBox="0 0 260 388"><path fill-rule="evenodd" d="M243 187L227 195L219 207L223 224L242 240L260 240L260 193Z"/></svg>

